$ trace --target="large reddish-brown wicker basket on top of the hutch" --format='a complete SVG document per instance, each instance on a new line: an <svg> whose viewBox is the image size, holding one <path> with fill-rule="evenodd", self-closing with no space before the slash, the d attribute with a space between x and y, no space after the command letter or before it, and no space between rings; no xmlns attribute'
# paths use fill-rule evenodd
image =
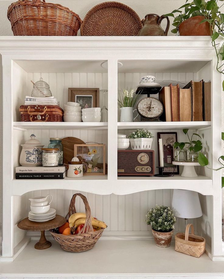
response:
<svg viewBox="0 0 224 279"><path fill-rule="evenodd" d="M14 36L77 36L79 15L45 0L19 0L8 8Z"/></svg>

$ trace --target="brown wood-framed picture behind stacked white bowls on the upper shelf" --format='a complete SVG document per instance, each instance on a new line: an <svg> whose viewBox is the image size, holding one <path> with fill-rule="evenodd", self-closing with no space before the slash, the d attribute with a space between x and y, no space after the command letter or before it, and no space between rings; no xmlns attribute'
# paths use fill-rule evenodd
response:
<svg viewBox="0 0 224 279"><path fill-rule="evenodd" d="M81 109L99 107L99 88L68 88L68 101L79 103Z"/></svg>

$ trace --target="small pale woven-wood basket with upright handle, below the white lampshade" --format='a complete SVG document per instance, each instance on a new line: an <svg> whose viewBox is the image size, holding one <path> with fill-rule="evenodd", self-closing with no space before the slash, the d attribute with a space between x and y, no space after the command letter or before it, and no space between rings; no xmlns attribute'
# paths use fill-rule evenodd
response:
<svg viewBox="0 0 224 279"><path fill-rule="evenodd" d="M175 251L199 258L205 253L205 238L195 235L193 224L187 224L185 233L175 235Z"/></svg>

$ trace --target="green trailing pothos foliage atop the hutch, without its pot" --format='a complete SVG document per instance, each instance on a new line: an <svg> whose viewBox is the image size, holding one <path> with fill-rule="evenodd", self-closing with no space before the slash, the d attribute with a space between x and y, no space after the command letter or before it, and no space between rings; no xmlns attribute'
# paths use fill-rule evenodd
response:
<svg viewBox="0 0 224 279"><path fill-rule="evenodd" d="M216 70L219 73L224 74L222 66L224 63L220 63L220 60L224 60L224 42L217 41L217 39L224 37L224 14L220 12L220 8L224 3L218 6L218 2L223 2L224 0L193 0L192 2L186 1L179 9L173 10L173 12L168 13L164 16L172 16L173 26L175 27L171 30L172 33L177 34L180 24L191 17L201 15L203 20L200 22L208 22L210 25L210 33L212 46L215 48L215 53L217 56ZM182 10L181 10L182 9ZM177 14L177 15L174 15ZM224 91L224 81L222 83L222 88Z"/></svg>

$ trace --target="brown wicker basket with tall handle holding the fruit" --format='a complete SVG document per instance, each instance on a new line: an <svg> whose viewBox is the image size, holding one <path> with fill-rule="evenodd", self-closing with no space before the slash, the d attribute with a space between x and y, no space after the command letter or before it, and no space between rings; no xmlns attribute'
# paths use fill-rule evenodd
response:
<svg viewBox="0 0 224 279"><path fill-rule="evenodd" d="M54 232L54 230L50 230L50 232L51 235L54 237L54 239L60 244L63 250L69 252L84 252L94 247L97 240L102 235L104 229L93 231L93 226L91 223L91 210L89 207L89 203L86 197L79 193L74 194L72 196L68 214L65 218L69 218L73 213L76 213L75 210L76 196L80 196L80 198L83 200L85 204L85 209L86 209L86 222L82 230L80 230L80 232L75 235L63 235Z"/></svg>

